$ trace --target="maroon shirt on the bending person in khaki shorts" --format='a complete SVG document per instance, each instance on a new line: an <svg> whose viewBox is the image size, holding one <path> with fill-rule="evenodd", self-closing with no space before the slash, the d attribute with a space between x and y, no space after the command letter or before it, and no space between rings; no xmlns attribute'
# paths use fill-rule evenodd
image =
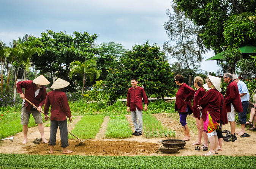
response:
<svg viewBox="0 0 256 169"><path fill-rule="evenodd" d="M36 92L36 84L33 83L32 80L26 80L26 81L19 81L17 83L17 91L18 93L23 93L22 88L25 88L25 98L28 99L30 102L32 102L35 106L43 107L45 98L46 98L46 88L43 86L43 88L40 89L38 95L35 97ZM25 101L26 110L30 111L31 106L30 103Z"/></svg>

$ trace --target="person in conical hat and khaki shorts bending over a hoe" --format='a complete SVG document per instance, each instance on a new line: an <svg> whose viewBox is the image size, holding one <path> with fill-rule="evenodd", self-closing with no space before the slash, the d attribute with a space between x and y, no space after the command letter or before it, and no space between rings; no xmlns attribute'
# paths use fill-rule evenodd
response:
<svg viewBox="0 0 256 169"><path fill-rule="evenodd" d="M34 108L30 103L23 100L21 106L21 124L23 125L23 133L24 133L24 141L22 144L27 144L27 133L28 133L28 122L30 114L33 115L35 119L35 123L38 125L38 130L41 134L42 142L47 143L44 137L44 127L43 127L43 120L42 115L39 111L42 110L42 106L44 105L45 98L46 98L46 88L44 85L49 85L49 81L43 76L40 75L39 77L32 80L26 81L19 81L17 83L17 91L21 94L21 99L28 99L32 102L35 106L38 107L38 110ZM25 94L22 91L22 88L25 88ZM36 142L38 144L39 142Z"/></svg>

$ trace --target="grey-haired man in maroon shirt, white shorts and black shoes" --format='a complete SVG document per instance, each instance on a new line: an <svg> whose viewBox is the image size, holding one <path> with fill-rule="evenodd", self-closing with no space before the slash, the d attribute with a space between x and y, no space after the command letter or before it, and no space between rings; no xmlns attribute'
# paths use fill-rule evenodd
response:
<svg viewBox="0 0 256 169"><path fill-rule="evenodd" d="M237 140L237 137L235 136L235 111L243 112L243 107L237 84L232 80L232 74L225 73L223 79L225 83L228 83L225 102L227 108L228 121L231 130L231 135L225 136L223 140L235 141Z"/></svg>

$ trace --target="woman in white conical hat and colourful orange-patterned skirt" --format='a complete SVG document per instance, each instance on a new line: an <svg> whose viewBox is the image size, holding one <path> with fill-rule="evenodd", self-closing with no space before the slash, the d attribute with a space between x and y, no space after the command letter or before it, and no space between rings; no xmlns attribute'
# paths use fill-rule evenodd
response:
<svg viewBox="0 0 256 169"><path fill-rule="evenodd" d="M228 123L226 116L226 104L224 98L220 93L221 78L208 76L204 87L209 90L198 102L198 110L202 110L204 131L207 133L210 141L210 151L203 156L215 155L217 150L221 150L222 138L218 139L221 133L221 125ZM221 133L222 134L222 133ZM220 135L220 137L223 137ZM219 142L219 144L218 144ZM218 145L218 146L217 146Z"/></svg>

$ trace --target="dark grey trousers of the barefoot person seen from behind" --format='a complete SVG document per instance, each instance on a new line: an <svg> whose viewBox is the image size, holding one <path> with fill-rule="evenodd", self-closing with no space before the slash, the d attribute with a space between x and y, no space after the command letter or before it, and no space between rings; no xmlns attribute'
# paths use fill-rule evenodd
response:
<svg viewBox="0 0 256 169"><path fill-rule="evenodd" d="M64 121L54 121L51 120L51 131L50 131L50 146L56 145L56 133L58 127L60 128L60 140L61 140L61 147L68 147L68 125L67 120Z"/></svg>

